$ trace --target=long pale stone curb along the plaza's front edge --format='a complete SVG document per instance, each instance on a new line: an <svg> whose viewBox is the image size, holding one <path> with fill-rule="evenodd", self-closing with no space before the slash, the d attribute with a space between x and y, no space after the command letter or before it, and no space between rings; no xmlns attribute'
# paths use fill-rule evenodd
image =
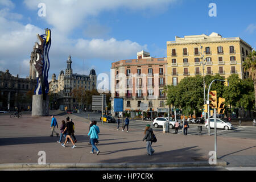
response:
<svg viewBox="0 0 256 182"><path fill-rule="evenodd" d="M206 162L176 162L176 163L13 163L0 164L2 169L33 169L33 168L162 168L162 167L203 167L203 166L227 166L228 163L218 159L217 164L210 165Z"/></svg>

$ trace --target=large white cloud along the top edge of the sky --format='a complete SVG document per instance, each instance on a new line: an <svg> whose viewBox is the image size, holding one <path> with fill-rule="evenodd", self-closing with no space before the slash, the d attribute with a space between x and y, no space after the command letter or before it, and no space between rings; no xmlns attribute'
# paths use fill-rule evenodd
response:
<svg viewBox="0 0 256 182"><path fill-rule="evenodd" d="M125 8L140 11L159 9L162 12L176 0L24 0L26 6L32 10L39 10L38 4L42 2L46 4L46 22L57 30L68 33L73 28L80 27L89 16L97 16L103 11Z"/></svg>

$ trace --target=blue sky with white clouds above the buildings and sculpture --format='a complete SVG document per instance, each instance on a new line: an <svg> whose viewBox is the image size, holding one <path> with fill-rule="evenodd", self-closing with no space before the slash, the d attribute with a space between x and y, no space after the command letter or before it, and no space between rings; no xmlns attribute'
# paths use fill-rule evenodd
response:
<svg viewBox="0 0 256 182"><path fill-rule="evenodd" d="M217 32L255 48L255 7L253 0L0 0L0 71L27 77L44 28L52 33L49 79L65 71L69 55L73 73L86 75L92 68L110 75L111 63L142 50L166 57L175 36Z"/></svg>

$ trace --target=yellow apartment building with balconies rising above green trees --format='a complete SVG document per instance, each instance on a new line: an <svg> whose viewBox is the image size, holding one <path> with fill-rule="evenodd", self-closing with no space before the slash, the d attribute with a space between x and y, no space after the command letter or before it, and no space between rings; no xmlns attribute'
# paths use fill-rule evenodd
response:
<svg viewBox="0 0 256 182"><path fill-rule="evenodd" d="M176 36L175 41L167 42L167 84L177 85L186 76L216 73L225 78L232 74L245 78L242 63L252 50L241 38L222 38L215 32Z"/></svg>

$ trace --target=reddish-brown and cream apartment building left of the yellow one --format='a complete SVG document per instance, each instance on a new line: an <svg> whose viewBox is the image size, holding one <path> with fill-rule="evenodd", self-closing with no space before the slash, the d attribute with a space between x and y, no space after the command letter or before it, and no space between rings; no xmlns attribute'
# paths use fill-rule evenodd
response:
<svg viewBox="0 0 256 182"><path fill-rule="evenodd" d="M152 111L165 112L167 58L154 58L141 51L137 59L120 60L112 63L112 113L113 98L123 98L123 110L131 116L142 113L141 104Z"/></svg>

